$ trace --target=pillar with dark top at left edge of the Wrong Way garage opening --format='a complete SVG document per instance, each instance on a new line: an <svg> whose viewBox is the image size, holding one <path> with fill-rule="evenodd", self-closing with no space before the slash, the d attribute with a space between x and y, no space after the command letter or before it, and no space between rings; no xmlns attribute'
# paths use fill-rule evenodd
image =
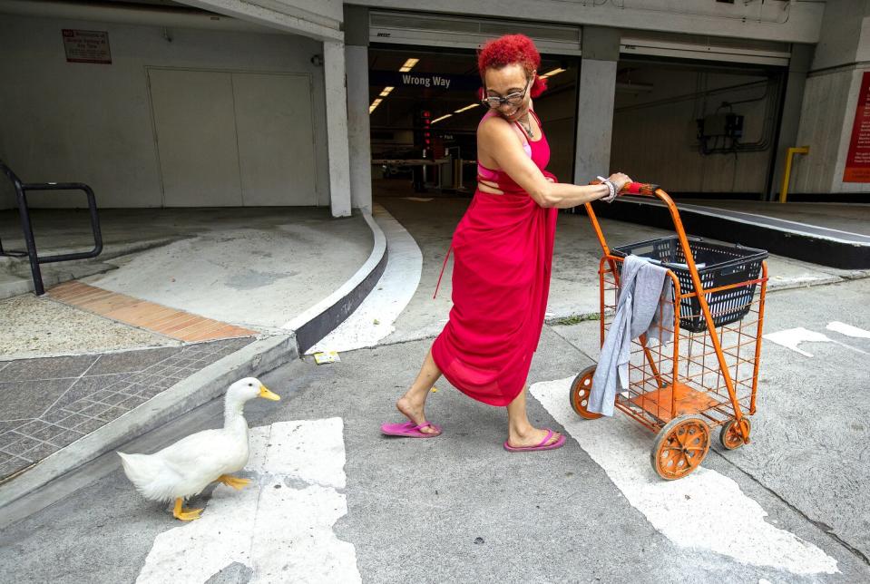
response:
<svg viewBox="0 0 870 584"><path fill-rule="evenodd" d="M345 5L347 135L350 144L350 200L372 210L372 154L368 125L368 8Z"/></svg>

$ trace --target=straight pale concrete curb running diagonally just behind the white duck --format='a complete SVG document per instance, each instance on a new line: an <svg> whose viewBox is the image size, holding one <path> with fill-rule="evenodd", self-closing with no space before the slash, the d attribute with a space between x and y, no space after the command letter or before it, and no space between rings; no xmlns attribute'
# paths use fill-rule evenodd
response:
<svg viewBox="0 0 870 584"><path fill-rule="evenodd" d="M121 444L210 402L224 394L227 385L239 378L263 375L297 357L293 335L254 341L5 482L0 486L0 510ZM42 502L42 506L47 507L54 501Z"/></svg>

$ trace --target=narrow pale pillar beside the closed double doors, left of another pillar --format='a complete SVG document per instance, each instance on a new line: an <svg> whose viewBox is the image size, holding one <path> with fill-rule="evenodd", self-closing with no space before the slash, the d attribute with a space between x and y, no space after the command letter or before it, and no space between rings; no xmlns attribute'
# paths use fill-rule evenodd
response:
<svg viewBox="0 0 870 584"><path fill-rule="evenodd" d="M351 205L344 43L324 41L323 77L327 94L329 206L333 217L347 217L350 215Z"/></svg>

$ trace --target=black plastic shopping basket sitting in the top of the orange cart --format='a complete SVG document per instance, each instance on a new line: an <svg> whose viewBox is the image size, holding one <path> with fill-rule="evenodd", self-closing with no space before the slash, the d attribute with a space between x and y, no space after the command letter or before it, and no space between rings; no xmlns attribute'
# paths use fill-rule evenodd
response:
<svg viewBox="0 0 870 584"><path fill-rule="evenodd" d="M699 238L689 238L689 249L695 258L695 265L703 266L698 268L698 275L701 286L705 289L758 279L761 262L767 258L767 251L764 249L709 243ZM611 252L614 256L622 258L634 255L655 259L674 273L679 280L682 294L695 291L685 254L677 236L617 246L612 248ZM619 269L621 272L621 262ZM756 284L752 283L706 295L713 324L728 325L746 316L755 294L755 287ZM692 333L699 333L707 328L707 320L701 313L698 297L682 298L680 301L679 327Z"/></svg>

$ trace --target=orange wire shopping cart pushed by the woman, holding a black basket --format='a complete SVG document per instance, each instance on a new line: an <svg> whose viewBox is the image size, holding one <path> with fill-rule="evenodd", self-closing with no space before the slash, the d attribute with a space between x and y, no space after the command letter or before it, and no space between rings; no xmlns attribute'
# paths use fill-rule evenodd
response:
<svg viewBox="0 0 870 584"><path fill-rule="evenodd" d="M617 307L623 259L650 258L668 268L672 300L662 298L659 325L666 344L645 335L631 343L629 388L617 389L615 409L656 434L652 467L667 480L698 468L711 435L728 450L749 443L748 415L756 413L758 363L767 289L767 251L689 238L679 210L657 185L632 183L631 194L656 197L670 211L676 235L610 248L591 204L586 204L604 255L599 264L601 346ZM667 277L666 277L667 281ZM673 319L661 322L664 303ZM667 311L670 314L670 310ZM595 366L577 375L571 405L586 419Z"/></svg>

